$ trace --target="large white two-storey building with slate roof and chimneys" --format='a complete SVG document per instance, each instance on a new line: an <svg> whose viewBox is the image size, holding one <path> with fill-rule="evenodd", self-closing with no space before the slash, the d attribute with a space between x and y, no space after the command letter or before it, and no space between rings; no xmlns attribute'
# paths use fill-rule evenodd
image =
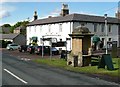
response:
<svg viewBox="0 0 120 87"><path fill-rule="evenodd" d="M36 14L36 13L35 13ZM37 16L37 15L36 15ZM105 45L105 18L85 14L69 14L68 5L63 4L61 15L44 19L35 19L27 25L27 45L36 42L38 45L51 45L64 43L64 50L72 49L72 40L69 34L78 26L87 27L90 32L99 36ZM107 17L107 41L117 41L120 47L120 20L115 17ZM46 39L45 41L43 41ZM65 46L67 42L67 45Z"/></svg>

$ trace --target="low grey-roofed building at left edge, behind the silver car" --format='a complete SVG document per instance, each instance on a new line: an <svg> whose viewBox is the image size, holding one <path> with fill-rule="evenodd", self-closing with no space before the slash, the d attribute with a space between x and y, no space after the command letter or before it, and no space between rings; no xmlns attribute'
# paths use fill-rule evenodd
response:
<svg viewBox="0 0 120 87"><path fill-rule="evenodd" d="M26 37L22 34L0 34L0 40L11 41L19 45L26 44Z"/></svg>

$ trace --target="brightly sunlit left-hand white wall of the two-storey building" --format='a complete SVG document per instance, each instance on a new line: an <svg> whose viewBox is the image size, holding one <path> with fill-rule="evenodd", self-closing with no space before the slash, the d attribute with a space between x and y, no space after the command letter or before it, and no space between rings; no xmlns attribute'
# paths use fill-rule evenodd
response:
<svg viewBox="0 0 120 87"><path fill-rule="evenodd" d="M62 25L62 31L60 31L60 24ZM30 43L30 38L38 37L38 45L42 45L40 38L56 38L57 41L66 41L66 38L70 38L68 34L72 33L72 23L55 23L37 26L27 27L27 45ZM45 41L44 45L50 45L49 41ZM66 50L66 47L63 48ZM71 50L71 41L67 41L67 50Z"/></svg>

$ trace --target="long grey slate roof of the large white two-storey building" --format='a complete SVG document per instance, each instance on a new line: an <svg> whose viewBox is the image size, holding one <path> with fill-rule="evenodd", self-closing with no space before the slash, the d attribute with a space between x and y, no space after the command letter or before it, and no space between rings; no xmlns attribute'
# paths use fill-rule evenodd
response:
<svg viewBox="0 0 120 87"><path fill-rule="evenodd" d="M108 23L118 24L117 18L114 17L107 17ZM66 16L57 16L57 17L50 17L45 19L39 19L32 21L28 24L28 26L32 25L43 25L43 24L50 24L50 23L61 23L61 22L92 22L92 23L104 23L105 19L104 16L93 16L93 15L85 15L85 14L69 14Z"/></svg>

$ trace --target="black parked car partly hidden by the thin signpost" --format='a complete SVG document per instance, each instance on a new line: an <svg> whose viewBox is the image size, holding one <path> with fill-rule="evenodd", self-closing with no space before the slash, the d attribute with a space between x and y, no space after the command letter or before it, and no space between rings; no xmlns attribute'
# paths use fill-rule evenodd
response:
<svg viewBox="0 0 120 87"><path fill-rule="evenodd" d="M50 46L43 46L44 55L50 55ZM42 46L35 47L35 53L42 55Z"/></svg>

